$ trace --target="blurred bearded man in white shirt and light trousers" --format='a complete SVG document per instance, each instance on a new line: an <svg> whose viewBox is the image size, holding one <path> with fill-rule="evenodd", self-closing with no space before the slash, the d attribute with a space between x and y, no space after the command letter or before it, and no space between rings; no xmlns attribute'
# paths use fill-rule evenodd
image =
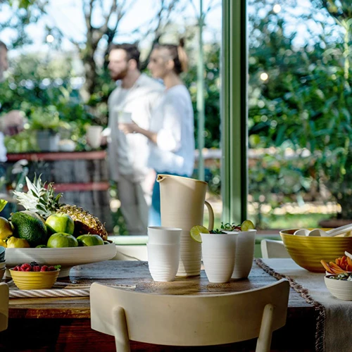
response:
<svg viewBox="0 0 352 352"><path fill-rule="evenodd" d="M151 111L163 85L139 70L139 50L133 44L113 44L109 52L111 78L120 81L108 99L108 158L111 178L117 182L122 215L130 234L146 234L153 170L147 167L148 139L124 134L118 122L136 122L149 129Z"/></svg>

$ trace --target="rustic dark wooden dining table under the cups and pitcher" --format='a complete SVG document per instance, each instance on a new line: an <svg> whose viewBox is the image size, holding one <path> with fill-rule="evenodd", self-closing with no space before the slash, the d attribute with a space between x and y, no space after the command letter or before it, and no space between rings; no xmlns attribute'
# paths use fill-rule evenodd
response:
<svg viewBox="0 0 352 352"><path fill-rule="evenodd" d="M198 277L177 277L174 282L153 282L146 262L108 260L75 266L70 272L70 277L60 279L60 281L70 284L91 284L92 282L123 284L127 286L127 289L153 294L197 295L244 291L265 286L275 282L276 279L253 263L248 279L232 280L227 284L210 284L203 270ZM77 352L86 351L86 349L89 351L114 351L113 337L90 329L89 297L14 298L10 300L9 318L8 330L0 333L0 351L3 351L1 348L9 348L9 340L16 340L18 329L24 339L16 340L16 347L11 345L12 349L9 351ZM304 343L305 351L310 351L310 348L313 351L315 310L296 291L291 289L287 325L274 333L272 346L276 346L278 351L287 346L294 346L292 348L297 348L296 350L300 351L303 345L299 344L302 344L303 339L298 341L294 338L294 330L297 331L298 326L304 331L301 337L308 339L308 342ZM30 329L28 332L25 331L26 327ZM38 335L41 339L38 339ZM291 340L289 344L288 339ZM237 351L237 347L234 346L239 346L239 344L224 345L222 351ZM253 348L253 341L251 341L251 346ZM138 343L134 343L133 347L134 351L170 350L169 348L163 349L162 346ZM241 348L244 348L243 345ZM251 351L251 348L244 351ZM179 348L175 351L185 350ZM218 350L214 349L213 351Z"/></svg>

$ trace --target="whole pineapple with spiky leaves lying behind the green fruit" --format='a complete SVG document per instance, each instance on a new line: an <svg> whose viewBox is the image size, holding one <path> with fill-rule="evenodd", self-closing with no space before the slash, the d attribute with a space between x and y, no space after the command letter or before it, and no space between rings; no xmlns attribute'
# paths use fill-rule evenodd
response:
<svg viewBox="0 0 352 352"><path fill-rule="evenodd" d="M108 232L106 232L104 225L96 216L79 206L59 203L62 194L60 193L55 196L53 183L49 183L47 188L45 188L46 182L42 182L40 175L38 178L34 176L33 182L30 182L28 177L25 179L28 188L27 193L20 191L13 192L18 203L24 206L25 209L37 213L44 219L54 213L68 214L75 222L75 235L99 234L104 241L108 239Z"/></svg>

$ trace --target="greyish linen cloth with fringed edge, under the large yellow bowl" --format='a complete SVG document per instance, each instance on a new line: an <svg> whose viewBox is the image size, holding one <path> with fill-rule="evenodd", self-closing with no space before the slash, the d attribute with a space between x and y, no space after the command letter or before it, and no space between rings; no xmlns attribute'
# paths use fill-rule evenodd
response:
<svg viewBox="0 0 352 352"><path fill-rule="evenodd" d="M320 338L322 337L322 346L321 344L317 345L318 348L320 346L318 351L351 352L352 301L342 301L332 296L325 286L324 273L309 272L294 263L291 258L262 260L275 273L287 276L304 289L308 289L309 296L325 308L325 324L321 327L323 331L317 332L317 338L322 333L320 336Z"/></svg>

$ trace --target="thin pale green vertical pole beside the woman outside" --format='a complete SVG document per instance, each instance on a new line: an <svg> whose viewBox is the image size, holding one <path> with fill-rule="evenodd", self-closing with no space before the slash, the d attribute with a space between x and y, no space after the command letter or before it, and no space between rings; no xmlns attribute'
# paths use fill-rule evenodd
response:
<svg viewBox="0 0 352 352"><path fill-rule="evenodd" d="M203 0L200 0L199 13L199 57L197 65L197 113L198 113L198 177L204 181L204 58L203 58Z"/></svg>

